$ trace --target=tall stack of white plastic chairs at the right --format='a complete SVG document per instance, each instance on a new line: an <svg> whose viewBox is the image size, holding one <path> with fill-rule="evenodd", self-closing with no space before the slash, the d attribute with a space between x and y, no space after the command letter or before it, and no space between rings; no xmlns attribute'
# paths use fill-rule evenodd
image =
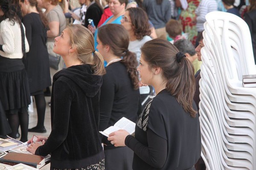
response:
<svg viewBox="0 0 256 170"><path fill-rule="evenodd" d="M256 169L256 88L242 75L256 74L250 31L240 17L206 15L199 113L202 153L209 170Z"/></svg>

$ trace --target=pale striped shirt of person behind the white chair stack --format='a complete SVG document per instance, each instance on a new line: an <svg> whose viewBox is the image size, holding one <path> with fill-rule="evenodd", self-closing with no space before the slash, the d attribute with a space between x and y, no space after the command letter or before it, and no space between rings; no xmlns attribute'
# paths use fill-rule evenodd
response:
<svg viewBox="0 0 256 170"><path fill-rule="evenodd" d="M198 8L195 10L195 14L197 15L196 28L198 32L204 31L205 15L212 11L217 11L216 0L201 0Z"/></svg>

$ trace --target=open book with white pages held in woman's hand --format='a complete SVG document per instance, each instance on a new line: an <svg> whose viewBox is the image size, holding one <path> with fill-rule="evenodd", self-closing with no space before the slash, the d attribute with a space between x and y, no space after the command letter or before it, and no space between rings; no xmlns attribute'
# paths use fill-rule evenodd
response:
<svg viewBox="0 0 256 170"><path fill-rule="evenodd" d="M122 117L119 121L117 121L114 124L114 126L108 127L103 132L99 131L99 133L109 137L108 135L110 133L122 129L122 130L126 130L128 133L130 133L132 135L135 132L135 126L136 126L136 124L134 122L130 121L129 119L127 119L125 117Z"/></svg>

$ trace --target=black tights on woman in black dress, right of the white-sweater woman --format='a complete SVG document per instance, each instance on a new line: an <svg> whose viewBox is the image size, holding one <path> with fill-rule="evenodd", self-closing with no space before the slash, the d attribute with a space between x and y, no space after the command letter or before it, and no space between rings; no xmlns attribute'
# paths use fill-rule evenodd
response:
<svg viewBox="0 0 256 170"><path fill-rule="evenodd" d="M35 95L34 97L35 97L36 111L38 114L38 123L36 127L44 128L44 115L45 115L45 109L46 109L46 101L44 98L44 93L40 95Z"/></svg>

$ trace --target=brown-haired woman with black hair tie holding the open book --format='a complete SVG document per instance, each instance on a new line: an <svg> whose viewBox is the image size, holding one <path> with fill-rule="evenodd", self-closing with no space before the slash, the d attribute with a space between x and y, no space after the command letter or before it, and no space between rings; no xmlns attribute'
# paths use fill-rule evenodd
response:
<svg viewBox="0 0 256 170"><path fill-rule="evenodd" d="M118 130L108 140L134 151L133 170L195 170L201 133L192 63L167 40L150 40L141 51L141 81L157 95L140 115L135 137Z"/></svg>

